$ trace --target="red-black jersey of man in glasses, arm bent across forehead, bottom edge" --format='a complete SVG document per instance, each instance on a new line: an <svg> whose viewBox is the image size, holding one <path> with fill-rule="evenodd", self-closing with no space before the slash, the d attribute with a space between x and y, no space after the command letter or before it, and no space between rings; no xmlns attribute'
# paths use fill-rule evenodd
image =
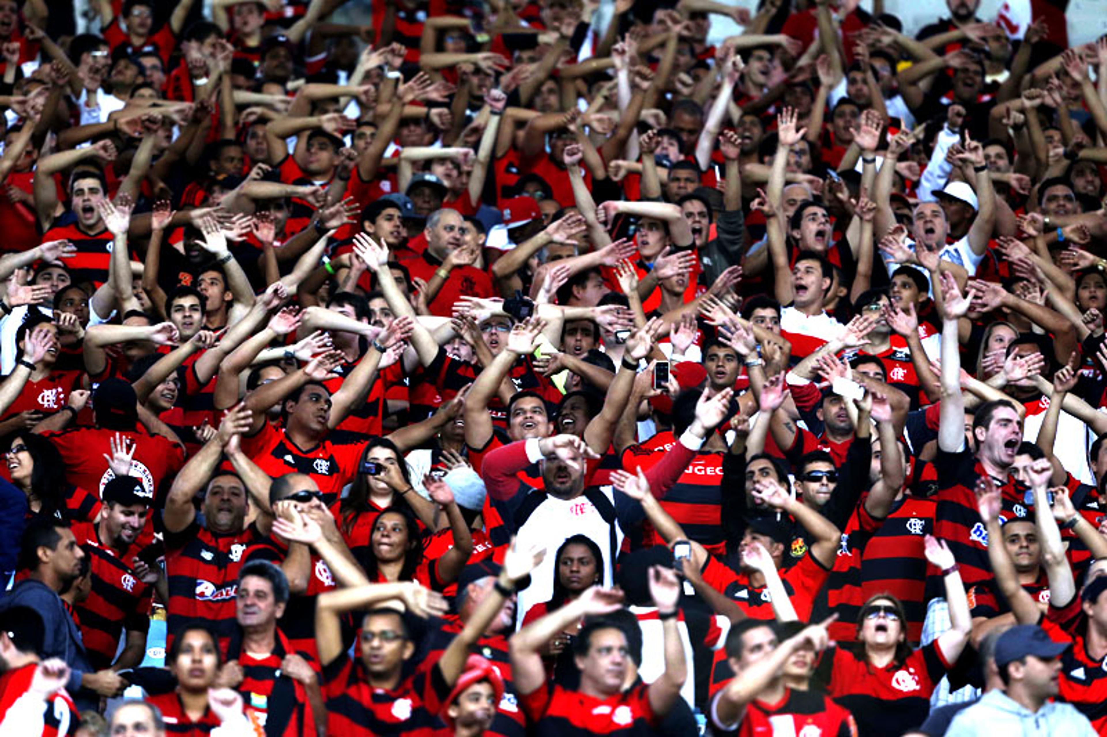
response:
<svg viewBox="0 0 1107 737"><path fill-rule="evenodd" d="M431 737L451 691L437 660L424 660L400 686L386 691L369 685L361 664L344 653L323 666L322 687L327 734L375 737Z"/></svg>

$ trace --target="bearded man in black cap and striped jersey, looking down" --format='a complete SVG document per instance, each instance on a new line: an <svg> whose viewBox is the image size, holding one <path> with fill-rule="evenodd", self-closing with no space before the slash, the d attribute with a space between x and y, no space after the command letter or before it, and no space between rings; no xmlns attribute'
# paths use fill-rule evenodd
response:
<svg viewBox="0 0 1107 737"><path fill-rule="evenodd" d="M104 508L100 521L73 526L73 534L92 561L92 592L75 609L89 662L97 669L118 672L136 667L145 657L153 595L149 584L158 582L162 569L151 564L153 558L148 556L145 578L132 565L141 553L135 543L153 501L142 481L117 476L107 482L101 497ZM120 634L124 632L126 642L116 657Z"/></svg>

